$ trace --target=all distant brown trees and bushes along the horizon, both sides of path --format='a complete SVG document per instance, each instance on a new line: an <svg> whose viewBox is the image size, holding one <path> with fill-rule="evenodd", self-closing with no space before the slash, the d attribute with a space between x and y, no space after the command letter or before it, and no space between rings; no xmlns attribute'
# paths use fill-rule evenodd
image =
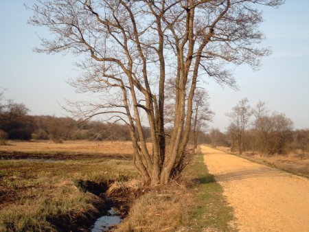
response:
<svg viewBox="0 0 309 232"><path fill-rule="evenodd" d="M203 96L203 97L201 97ZM1 97L1 95L0 95ZM299 150L301 154L309 152L309 129L293 130L293 121L281 113L269 113L265 102L249 105L244 98L231 109L227 116L231 123L226 132L211 128L214 113L209 111L207 93L196 95L194 117L189 143L209 143L212 146L226 146L231 152L249 151L253 154L285 154ZM200 113L201 111L201 113ZM70 117L34 116L22 103L8 100L0 104L0 140L52 140L62 143L65 140L130 141L130 132L125 124L111 124L102 121L82 121ZM150 129L143 127L145 138L151 142ZM165 135L169 143L167 127Z"/></svg>

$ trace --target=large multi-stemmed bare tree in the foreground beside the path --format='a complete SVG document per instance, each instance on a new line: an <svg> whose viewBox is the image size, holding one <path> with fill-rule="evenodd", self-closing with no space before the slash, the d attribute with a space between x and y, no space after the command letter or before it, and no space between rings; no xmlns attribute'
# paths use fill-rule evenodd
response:
<svg viewBox="0 0 309 232"><path fill-rule="evenodd" d="M196 82L211 76L235 86L225 65L257 67L269 54L255 47L262 13L283 0L38 0L33 25L48 27L37 51L85 57L73 82L98 102L78 104L86 118L108 114L123 121L134 148L134 163L145 185L166 184L183 160L192 123ZM174 127L165 144L165 80L175 83ZM103 97L102 97L103 96ZM80 115L81 116L81 115ZM152 152L142 125L150 128Z"/></svg>

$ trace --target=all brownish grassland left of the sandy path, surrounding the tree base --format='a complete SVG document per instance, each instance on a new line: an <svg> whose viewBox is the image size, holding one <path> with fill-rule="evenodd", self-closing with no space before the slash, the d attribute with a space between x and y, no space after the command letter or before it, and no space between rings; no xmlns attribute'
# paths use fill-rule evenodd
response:
<svg viewBox="0 0 309 232"><path fill-rule="evenodd" d="M232 210L201 154L178 181L149 189L141 186L129 142L6 143L0 231L88 231L111 205L122 216L130 207L116 231L231 229Z"/></svg>

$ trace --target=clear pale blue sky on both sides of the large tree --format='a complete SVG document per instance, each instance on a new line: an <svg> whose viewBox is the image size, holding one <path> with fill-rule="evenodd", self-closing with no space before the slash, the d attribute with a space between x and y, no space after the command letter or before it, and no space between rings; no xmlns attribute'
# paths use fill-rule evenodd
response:
<svg viewBox="0 0 309 232"><path fill-rule="evenodd" d="M65 98L78 97L68 78L78 76L71 55L36 54L38 35L46 36L43 28L27 25L32 14L23 3L34 1L0 1L0 86L8 89L5 98L23 102L33 115L63 116L60 105ZM282 7L263 8L265 22L262 42L273 54L262 59L259 71L242 66L235 69L239 91L224 89L207 80L205 89L216 113L211 126L224 131L229 124L225 113L238 100L247 97L252 105L267 102L271 111L285 113L295 128L309 128L309 1L287 0Z"/></svg>

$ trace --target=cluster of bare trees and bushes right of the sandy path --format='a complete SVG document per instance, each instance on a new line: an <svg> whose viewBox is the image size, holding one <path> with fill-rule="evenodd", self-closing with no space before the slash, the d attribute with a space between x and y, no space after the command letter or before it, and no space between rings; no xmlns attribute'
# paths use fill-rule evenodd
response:
<svg viewBox="0 0 309 232"><path fill-rule="evenodd" d="M213 146L228 146L231 152L251 152L264 155L286 154L298 150L309 152L309 128L293 130L293 121L282 113L270 113L265 102L250 106L244 98L233 106L230 124L225 133L212 128L206 142Z"/></svg>

